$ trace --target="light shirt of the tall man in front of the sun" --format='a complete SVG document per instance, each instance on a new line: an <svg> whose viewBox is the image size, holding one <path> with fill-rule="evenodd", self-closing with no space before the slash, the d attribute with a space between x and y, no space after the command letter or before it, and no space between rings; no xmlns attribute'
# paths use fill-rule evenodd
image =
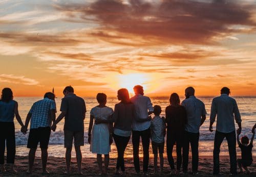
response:
<svg viewBox="0 0 256 177"><path fill-rule="evenodd" d="M135 112L138 118L146 119L148 117L148 111L154 111L151 100L147 96L136 94L131 98L131 102L135 105ZM133 130L143 131L150 128L150 121L137 122L133 119Z"/></svg>

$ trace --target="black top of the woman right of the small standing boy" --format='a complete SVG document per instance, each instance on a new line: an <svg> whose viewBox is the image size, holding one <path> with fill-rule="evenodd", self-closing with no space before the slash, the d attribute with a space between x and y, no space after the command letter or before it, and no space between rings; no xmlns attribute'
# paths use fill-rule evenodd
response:
<svg viewBox="0 0 256 177"><path fill-rule="evenodd" d="M184 131L187 123L186 109L183 106L167 106L165 109L167 131Z"/></svg>

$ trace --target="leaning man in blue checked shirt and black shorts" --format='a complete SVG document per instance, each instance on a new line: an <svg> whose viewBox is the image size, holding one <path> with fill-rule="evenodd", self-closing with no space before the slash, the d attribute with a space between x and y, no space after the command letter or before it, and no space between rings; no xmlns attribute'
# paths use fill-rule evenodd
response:
<svg viewBox="0 0 256 177"><path fill-rule="evenodd" d="M51 124L52 121L55 121L56 105L54 99L55 95L51 92L47 92L44 99L35 102L27 115L25 127L22 128L22 132L27 133L28 124L30 121L30 131L27 145L27 147L30 148L29 169L27 173L31 173L33 170L35 152L39 142L41 148L42 173L49 174L49 172L46 170L48 159L47 148L51 134Z"/></svg>

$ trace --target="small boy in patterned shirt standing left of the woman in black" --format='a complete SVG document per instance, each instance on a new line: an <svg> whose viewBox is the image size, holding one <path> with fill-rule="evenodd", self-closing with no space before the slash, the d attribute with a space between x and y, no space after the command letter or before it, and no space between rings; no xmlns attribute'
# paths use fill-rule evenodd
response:
<svg viewBox="0 0 256 177"><path fill-rule="evenodd" d="M166 134L166 124L164 117L160 117L162 110L158 105L154 106L155 117L151 120L151 141L152 141L152 150L154 154L154 169L157 173L157 157L159 151L160 157L160 169L161 173L163 172L163 149L164 149L164 137Z"/></svg>

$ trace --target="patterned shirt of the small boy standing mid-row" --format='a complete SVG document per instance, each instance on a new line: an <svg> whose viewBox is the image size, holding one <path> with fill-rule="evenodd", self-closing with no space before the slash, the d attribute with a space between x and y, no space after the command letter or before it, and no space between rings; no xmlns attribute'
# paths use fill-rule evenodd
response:
<svg viewBox="0 0 256 177"><path fill-rule="evenodd" d="M151 140L155 143L162 143L164 142L164 131L165 131L166 125L164 118L161 118L160 116L155 116L151 120Z"/></svg>

